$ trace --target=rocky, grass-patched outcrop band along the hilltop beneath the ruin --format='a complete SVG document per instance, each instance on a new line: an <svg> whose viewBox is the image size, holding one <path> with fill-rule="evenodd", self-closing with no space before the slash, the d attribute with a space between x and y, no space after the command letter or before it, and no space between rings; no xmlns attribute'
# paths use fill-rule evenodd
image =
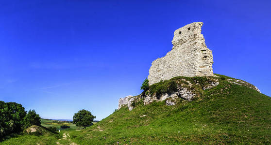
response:
<svg viewBox="0 0 271 145"><path fill-rule="evenodd" d="M217 87L218 85L224 87ZM128 106L131 111L136 107L137 102L143 102L148 105L155 101L165 101L168 106L176 105L180 100L193 101L195 98L201 98L204 92L218 89L222 92L224 89L232 85L249 87L258 92L260 90L254 85L235 78L225 77L223 75L208 76L208 77L176 77L169 81L163 81L152 85L148 90L142 92L138 96L127 96L119 99L119 108Z"/></svg>

